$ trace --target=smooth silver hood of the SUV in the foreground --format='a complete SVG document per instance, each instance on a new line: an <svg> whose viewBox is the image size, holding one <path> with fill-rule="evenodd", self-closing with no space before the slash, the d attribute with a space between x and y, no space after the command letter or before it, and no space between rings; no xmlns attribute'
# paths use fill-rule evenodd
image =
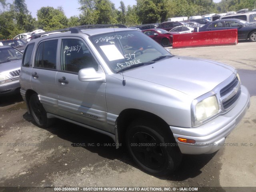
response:
<svg viewBox="0 0 256 192"><path fill-rule="evenodd" d="M124 76L160 84L196 98L213 90L235 71L232 66L212 60L174 56L126 71Z"/></svg>

